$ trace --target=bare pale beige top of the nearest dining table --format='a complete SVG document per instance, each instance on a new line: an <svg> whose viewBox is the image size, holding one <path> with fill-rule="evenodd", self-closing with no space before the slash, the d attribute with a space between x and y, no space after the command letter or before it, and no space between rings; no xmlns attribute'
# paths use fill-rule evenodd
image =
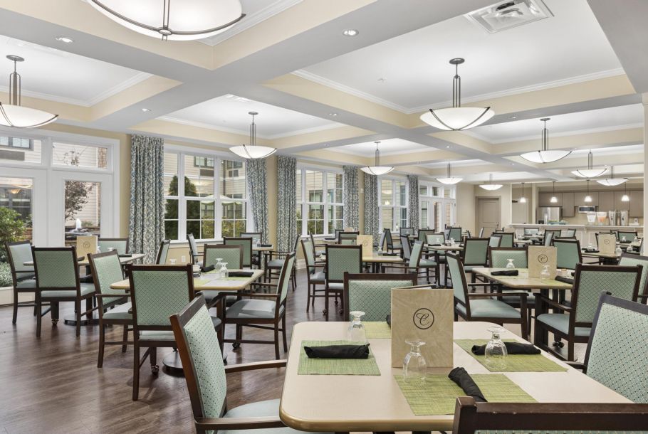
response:
<svg viewBox="0 0 648 434"><path fill-rule="evenodd" d="M444 401L446 406L450 406L446 411L426 411L426 406L435 405L434 402L430 402L434 401L430 399L432 395L422 396L422 393L417 394L414 390L414 396L418 396L414 399L411 394L412 387L402 387L402 369L392 367L392 339L389 332L383 337L367 339L377 365L375 372L365 372L362 375L305 374L302 366L306 360L303 343L343 341L348 325L348 322L300 322L293 327L279 406L279 417L288 427L303 431L329 432L450 432L457 391L454 384L444 387L437 385L446 384L447 374L452 367L457 366L464 367L476 382L479 378L480 382L508 384L510 389L503 388L503 399L513 402L518 402L518 399L521 402L565 403L565 408L568 408L569 403L630 402L624 396L545 351L539 356L548 359L544 360L545 365L553 366L551 370L524 371L523 368L515 371L490 371L476 356L460 346L460 342L466 342L468 339L483 339L481 342L487 342L491 337L488 328L496 325L488 322L454 322L453 366L427 369L424 383L429 385L425 386L424 390L432 393L439 401ZM501 338L526 342L508 330L501 334ZM344 366L345 359L335 359L335 362L338 366ZM515 395L512 393L513 388L517 391ZM488 398L487 391L483 391ZM405 396L406 392L409 397Z"/></svg>

